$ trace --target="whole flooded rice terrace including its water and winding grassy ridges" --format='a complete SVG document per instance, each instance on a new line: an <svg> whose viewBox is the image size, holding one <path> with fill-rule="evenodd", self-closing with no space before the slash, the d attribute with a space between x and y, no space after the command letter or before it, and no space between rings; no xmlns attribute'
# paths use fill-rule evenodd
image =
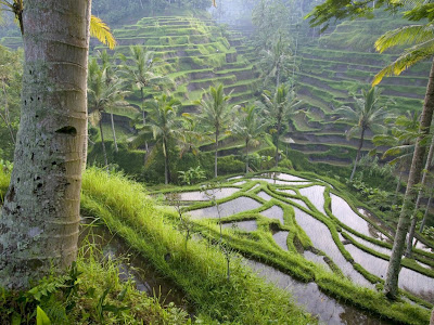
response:
<svg viewBox="0 0 434 325"><path fill-rule="evenodd" d="M426 322L424 308L434 302L432 243L422 238L426 245L417 246L414 260L403 260L403 300L384 302L381 289L394 233L367 206L348 197L339 182L312 173L267 172L209 186L154 194L182 207L181 219L190 216L195 238L224 240L324 323ZM411 320L405 320L410 314Z"/></svg>

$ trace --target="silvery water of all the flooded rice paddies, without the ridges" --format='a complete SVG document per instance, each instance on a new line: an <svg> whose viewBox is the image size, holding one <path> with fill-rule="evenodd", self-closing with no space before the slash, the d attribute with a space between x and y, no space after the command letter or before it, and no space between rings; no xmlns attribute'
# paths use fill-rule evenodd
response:
<svg viewBox="0 0 434 325"><path fill-rule="evenodd" d="M235 177L229 180L238 180L241 178L242 177ZM365 250L361 250L360 248L353 245L349 240L346 240L345 237L341 234L341 227L339 226L337 222L327 216L324 208L324 194L327 193L327 188L332 188L331 185L321 180L316 180L311 182L304 178L279 172L263 173L256 178L240 180L234 184L241 185L252 181L264 181L268 183L267 186L271 190L273 195L270 195L265 191L260 191L256 194L267 204L276 195L276 198L280 202L281 205L288 205L292 207L294 216L290 216L290 218L294 218L296 224L306 233L312 244L312 247L310 249L306 249L303 252L303 256L306 260L320 264L330 272L332 272L330 265L332 265L333 263L346 277L348 277L355 284L370 289L375 289L375 286L371 284L368 280L366 280L361 273L356 271L356 269L353 266L353 263L360 264L372 275L375 275L380 278L385 278L388 261L375 257ZM315 184L315 182L317 184ZM321 183L320 185L318 184L319 182ZM285 186L284 190L281 188L281 186L283 185ZM258 186L260 186L260 184L250 186L251 188L248 190L224 187L222 193L219 194L219 198L227 198L237 192L243 193L243 191L248 191L250 194L253 194L253 190L257 188ZM284 197L285 202L283 202L279 199L283 197L283 195L279 196L279 193L286 193L292 195L293 197ZM197 194L195 192L184 193L184 195L186 196L183 196L182 199L186 200L201 202L204 198L202 194ZM354 211L350 205L343 197L344 195L339 196L335 194L330 194L331 212L340 222L358 232L359 234L366 235L373 239L382 240L384 243L391 243L391 239L387 236L391 236L392 231L391 229L388 229L388 226L385 225L385 223L376 219L371 212L365 209L358 209L357 211ZM314 211L311 211L311 209L308 208L308 206L302 198L310 202L310 204L321 214L318 214L318 211L315 211L315 209ZM294 203L294 205L292 205L291 203ZM299 207L305 208L306 211L310 212L307 213L303 211L301 208L296 207L295 204ZM215 219L219 216L221 218L226 218L237 214L239 212L258 209L261 207L261 204L250 197L240 196L226 203L221 203L218 206L220 213L218 213L216 206L197 208L195 210L189 211L188 213L192 217L192 219ZM256 213L257 211L254 212ZM260 211L259 214L265 218L279 221L280 224L273 223L269 231L271 232L271 235L278 247L280 247L288 253L295 253L289 251L288 236L290 232L286 229L286 226L289 225L284 223L284 212L282 207L276 205L264 211ZM363 218L361 216L363 216ZM252 218L254 216L252 216ZM323 218L323 220L329 220L328 222L330 222L330 224L327 225L326 223L321 222L319 220L320 218ZM257 221L259 220L260 219L258 219ZM257 221L231 220L230 222L225 222L225 220L222 220L222 227L244 232L257 231L257 234L260 235L264 230L258 230ZM346 252L350 255L350 261L346 260L343 252L340 250L340 247L337 246L337 244L340 243L337 242L336 244L334 242L332 230L333 232L336 230L339 231L339 240L344 244L343 251L345 252L346 250ZM349 235L354 240L367 248L370 248L387 257L391 255L391 249L387 247L383 247L367 239L363 239L360 236L347 232L345 229L342 229L342 232L347 233L347 235ZM431 250L430 247L425 247L425 245L423 244L419 244L419 247L425 250ZM319 253L316 253L317 250L319 250ZM323 256L322 253L326 256ZM427 270L432 270L430 265L420 261L417 262L421 266ZM291 290L294 295L296 302L303 304L307 311L318 315L321 322L324 322L327 324L387 324L386 322L380 321L355 308L347 307L337 302L335 299L321 292L315 283L299 283L292 278L290 275L275 270L269 265L254 261L247 261L247 263L250 266L252 266L254 270L258 271L263 276L265 276L268 281L276 283L277 286L281 288ZM403 268L399 276L399 287L425 300L434 301L433 277L426 276L408 268Z"/></svg>

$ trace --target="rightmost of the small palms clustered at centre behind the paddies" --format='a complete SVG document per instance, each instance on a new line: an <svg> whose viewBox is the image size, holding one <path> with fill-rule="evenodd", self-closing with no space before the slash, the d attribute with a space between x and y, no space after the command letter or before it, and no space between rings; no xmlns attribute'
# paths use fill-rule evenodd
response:
<svg viewBox="0 0 434 325"><path fill-rule="evenodd" d="M275 160L277 167L279 164L279 138L282 133L283 125L294 116L302 102L295 98L294 91L289 90L284 84L278 87L273 95L267 90L264 91L263 100L268 123L276 127L272 132L275 133Z"/></svg>

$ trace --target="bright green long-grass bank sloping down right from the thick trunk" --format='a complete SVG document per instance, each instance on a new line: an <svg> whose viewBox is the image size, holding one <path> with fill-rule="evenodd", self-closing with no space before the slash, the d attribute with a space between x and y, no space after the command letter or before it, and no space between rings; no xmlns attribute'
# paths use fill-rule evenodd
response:
<svg viewBox="0 0 434 325"><path fill-rule="evenodd" d="M165 218L173 212L156 208L140 184L90 169L81 199L88 213L104 220L187 294L205 324L315 323L289 302L286 292L266 284L237 259L228 281L221 251L202 240L186 243L171 218Z"/></svg>

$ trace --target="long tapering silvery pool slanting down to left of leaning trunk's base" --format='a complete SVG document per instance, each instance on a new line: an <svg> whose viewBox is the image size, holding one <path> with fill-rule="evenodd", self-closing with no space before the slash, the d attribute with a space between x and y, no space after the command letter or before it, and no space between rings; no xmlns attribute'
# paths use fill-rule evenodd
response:
<svg viewBox="0 0 434 325"><path fill-rule="evenodd" d="M310 214L294 208L295 220L309 236L314 246L326 252L341 271L358 285L373 288L373 285L358 273L339 250L329 227Z"/></svg>

